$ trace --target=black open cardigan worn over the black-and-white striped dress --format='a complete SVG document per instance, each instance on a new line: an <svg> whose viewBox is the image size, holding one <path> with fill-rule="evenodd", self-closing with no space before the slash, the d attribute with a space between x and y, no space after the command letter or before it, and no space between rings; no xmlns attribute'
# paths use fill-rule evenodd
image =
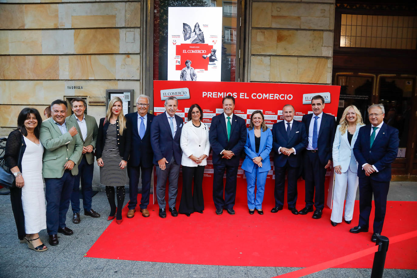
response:
<svg viewBox="0 0 417 278"><path fill-rule="evenodd" d="M97 135L97 144L95 146L95 156L97 159L101 158L101 154L103 153L103 147L104 142L106 142L106 134L107 134L107 128L109 125L109 121L106 121L104 123L105 118L100 119L100 124L98 125L98 135ZM117 146L119 149L119 154L121 157L123 157L123 160L128 161L129 159L129 153L131 148L131 124L129 121L126 120L126 129L123 130L123 135L120 135L119 133L119 120L116 120L117 128Z"/></svg>

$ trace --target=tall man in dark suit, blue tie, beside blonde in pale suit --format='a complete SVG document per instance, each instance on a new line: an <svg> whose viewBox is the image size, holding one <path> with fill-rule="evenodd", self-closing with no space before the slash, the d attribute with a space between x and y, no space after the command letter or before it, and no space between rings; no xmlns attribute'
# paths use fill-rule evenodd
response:
<svg viewBox="0 0 417 278"><path fill-rule="evenodd" d="M336 133L336 119L323 113L324 98L315 95L311 99L312 114L304 115L302 123L306 128L309 143L304 152L304 179L306 183L306 206L299 214L307 214L316 207L313 218L322 217L324 208L324 178L326 169L332 167L332 147ZM315 192L314 192L315 191ZM314 196L314 202L313 202Z"/></svg>

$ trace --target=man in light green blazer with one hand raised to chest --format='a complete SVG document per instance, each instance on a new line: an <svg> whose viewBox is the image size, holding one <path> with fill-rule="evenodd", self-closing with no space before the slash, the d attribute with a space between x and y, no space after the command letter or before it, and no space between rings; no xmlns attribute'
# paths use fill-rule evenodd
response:
<svg viewBox="0 0 417 278"><path fill-rule="evenodd" d="M52 117L40 126L43 152L42 175L45 178L46 227L49 244L58 244L58 233L72 235L65 225L70 196L74 187L74 174L78 174L78 161L83 152L83 141L68 121L67 103L55 100L51 104ZM73 173L71 173L73 171Z"/></svg>

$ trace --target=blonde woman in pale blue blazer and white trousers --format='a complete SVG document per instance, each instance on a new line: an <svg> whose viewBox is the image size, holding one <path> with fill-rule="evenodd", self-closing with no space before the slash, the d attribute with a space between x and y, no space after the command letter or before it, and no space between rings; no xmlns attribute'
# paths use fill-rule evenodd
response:
<svg viewBox="0 0 417 278"><path fill-rule="evenodd" d="M342 222L344 196L347 196L344 206L344 221L352 221L356 190L358 188L358 166L353 154L353 146L358 136L359 128L364 125L362 115L354 105L348 106L340 119L333 142L333 165L335 182L333 190L333 206L330 222L333 226Z"/></svg>

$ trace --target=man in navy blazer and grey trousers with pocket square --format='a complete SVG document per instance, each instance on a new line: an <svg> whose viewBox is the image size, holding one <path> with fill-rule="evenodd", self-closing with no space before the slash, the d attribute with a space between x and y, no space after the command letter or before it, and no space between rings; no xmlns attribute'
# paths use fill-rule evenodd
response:
<svg viewBox="0 0 417 278"><path fill-rule="evenodd" d="M151 125L151 145L153 163L156 166L156 198L159 205L159 216L166 218L165 188L169 180L168 205L171 215L178 216L175 208L178 193L178 175L180 172L182 151L180 146L183 120L175 115L178 108L176 97L165 100L166 112L153 118Z"/></svg>

